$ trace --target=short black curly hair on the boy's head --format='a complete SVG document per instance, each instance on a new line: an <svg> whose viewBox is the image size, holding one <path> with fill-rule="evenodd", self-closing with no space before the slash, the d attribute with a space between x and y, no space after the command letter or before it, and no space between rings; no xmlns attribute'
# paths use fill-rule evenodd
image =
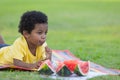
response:
<svg viewBox="0 0 120 80"><path fill-rule="evenodd" d="M21 16L18 31L23 34L23 31L26 30L30 34L34 29L35 24L38 23L48 24L46 14L40 11L27 11Z"/></svg>

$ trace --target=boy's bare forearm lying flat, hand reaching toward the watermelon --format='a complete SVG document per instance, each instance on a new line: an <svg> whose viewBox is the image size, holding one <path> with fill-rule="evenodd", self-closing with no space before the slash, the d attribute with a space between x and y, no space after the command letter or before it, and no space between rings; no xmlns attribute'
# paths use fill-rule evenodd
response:
<svg viewBox="0 0 120 80"><path fill-rule="evenodd" d="M30 68L30 69L38 69L39 66L41 65L42 61L38 61L36 63L25 63L21 60L18 60L18 59L13 59L13 64L15 66L20 66L20 67L24 67L24 68Z"/></svg>

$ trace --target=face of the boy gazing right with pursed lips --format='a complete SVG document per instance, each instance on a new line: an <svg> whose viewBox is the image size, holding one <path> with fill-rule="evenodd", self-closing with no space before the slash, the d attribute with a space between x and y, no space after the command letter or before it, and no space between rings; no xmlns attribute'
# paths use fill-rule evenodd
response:
<svg viewBox="0 0 120 80"><path fill-rule="evenodd" d="M46 41L47 31L47 24L36 24L35 28L26 38L28 46L41 46Z"/></svg>

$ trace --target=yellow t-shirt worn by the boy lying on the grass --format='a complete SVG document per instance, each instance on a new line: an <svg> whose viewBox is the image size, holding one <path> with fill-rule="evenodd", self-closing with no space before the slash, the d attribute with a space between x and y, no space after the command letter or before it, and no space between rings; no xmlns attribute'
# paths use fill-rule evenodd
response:
<svg viewBox="0 0 120 80"><path fill-rule="evenodd" d="M30 52L24 36L19 37L11 46L0 49L0 65L13 64L13 58L19 59L26 63L35 63L46 58L45 55L46 42L37 47L36 56Z"/></svg>

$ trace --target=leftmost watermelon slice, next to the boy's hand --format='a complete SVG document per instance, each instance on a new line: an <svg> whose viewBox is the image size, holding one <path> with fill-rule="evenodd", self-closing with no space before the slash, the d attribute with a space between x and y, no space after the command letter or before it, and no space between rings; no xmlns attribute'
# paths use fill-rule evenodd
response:
<svg viewBox="0 0 120 80"><path fill-rule="evenodd" d="M52 66L51 64L51 61L50 60L46 60L44 61L41 66L39 67L38 69L38 72L40 74L44 74L44 75L51 75L53 74L55 71L54 71L54 67Z"/></svg>

